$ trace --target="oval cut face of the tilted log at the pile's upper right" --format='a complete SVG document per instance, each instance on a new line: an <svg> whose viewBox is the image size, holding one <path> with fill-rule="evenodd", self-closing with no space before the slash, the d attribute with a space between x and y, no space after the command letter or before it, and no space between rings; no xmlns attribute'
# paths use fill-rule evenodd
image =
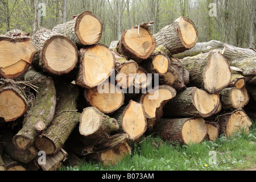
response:
<svg viewBox="0 0 256 182"><path fill-rule="evenodd" d="M181 16L175 20L175 23L177 24L177 32L183 46L188 49L196 46L198 32L192 20Z"/></svg>

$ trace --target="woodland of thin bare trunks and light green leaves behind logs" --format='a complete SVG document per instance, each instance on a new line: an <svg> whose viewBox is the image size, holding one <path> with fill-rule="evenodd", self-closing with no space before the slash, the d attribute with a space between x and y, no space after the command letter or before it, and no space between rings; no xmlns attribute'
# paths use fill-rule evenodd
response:
<svg viewBox="0 0 256 182"><path fill-rule="evenodd" d="M256 43L256 0L0 0L0 34L18 28L32 35L83 11L104 24L100 43L106 46L135 24L154 21L155 34L180 16L195 23L198 42L219 40L242 48Z"/></svg>

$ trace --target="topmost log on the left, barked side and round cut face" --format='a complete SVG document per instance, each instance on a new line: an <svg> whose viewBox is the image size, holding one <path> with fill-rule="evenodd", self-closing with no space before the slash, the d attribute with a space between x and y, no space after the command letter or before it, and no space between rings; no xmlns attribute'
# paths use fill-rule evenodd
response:
<svg viewBox="0 0 256 182"><path fill-rule="evenodd" d="M84 11L69 22L52 28L52 31L71 39L77 47L97 44L101 39L102 30L101 20L90 11Z"/></svg>

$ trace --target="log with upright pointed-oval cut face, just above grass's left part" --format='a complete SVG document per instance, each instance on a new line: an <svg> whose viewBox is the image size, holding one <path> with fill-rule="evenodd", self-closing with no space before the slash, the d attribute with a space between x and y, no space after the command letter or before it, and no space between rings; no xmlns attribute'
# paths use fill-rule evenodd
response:
<svg viewBox="0 0 256 182"><path fill-rule="evenodd" d="M126 133L128 139L137 140L147 129L147 119L143 104L130 100L129 104L122 106L111 117L117 120L119 133Z"/></svg>

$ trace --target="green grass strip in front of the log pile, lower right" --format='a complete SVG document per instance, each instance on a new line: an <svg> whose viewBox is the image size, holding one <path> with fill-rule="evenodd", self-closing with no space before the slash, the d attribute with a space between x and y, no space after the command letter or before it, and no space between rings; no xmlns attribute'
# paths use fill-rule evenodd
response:
<svg viewBox="0 0 256 182"><path fill-rule="evenodd" d="M243 170L256 164L256 125L250 133L241 132L215 142L207 141L189 146L176 146L163 142L159 137L142 137L134 144L131 155L113 166L93 161L82 162L76 167L68 163L60 170L71 171L226 171ZM216 155L214 155L216 154ZM216 156L216 163L213 163Z"/></svg>

